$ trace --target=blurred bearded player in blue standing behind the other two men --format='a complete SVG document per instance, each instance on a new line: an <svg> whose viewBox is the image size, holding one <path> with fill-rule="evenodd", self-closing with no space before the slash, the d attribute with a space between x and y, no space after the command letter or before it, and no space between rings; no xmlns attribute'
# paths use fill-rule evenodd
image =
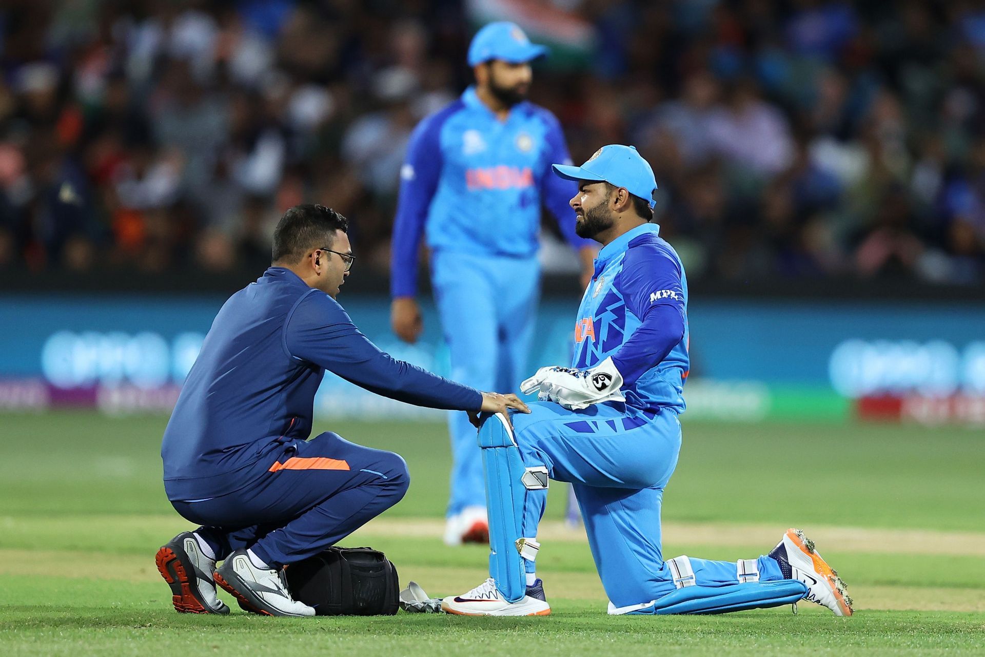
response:
<svg viewBox="0 0 985 657"><path fill-rule="evenodd" d="M492 23L469 46L476 85L422 121L411 138L393 229L393 331L405 342L423 328L417 295L422 233L451 376L488 390L515 385L527 363L540 288L541 206L572 248L583 280L595 249L570 222L569 163L558 119L526 100L530 62L547 54L512 23ZM449 415L451 498L445 543L485 542L489 527L482 456L463 413Z"/></svg>

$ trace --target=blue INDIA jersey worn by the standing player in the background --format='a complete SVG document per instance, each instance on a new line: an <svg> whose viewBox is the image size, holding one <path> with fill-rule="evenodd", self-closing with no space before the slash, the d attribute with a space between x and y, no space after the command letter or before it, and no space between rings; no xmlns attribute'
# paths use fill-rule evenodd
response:
<svg viewBox="0 0 985 657"><path fill-rule="evenodd" d="M393 296L417 293L423 232L432 250L530 257L539 245L543 203L572 247L589 246L571 221L575 183L551 171L551 164L570 162L558 119L532 102L514 105L500 121L470 87L424 119L401 169Z"/></svg>

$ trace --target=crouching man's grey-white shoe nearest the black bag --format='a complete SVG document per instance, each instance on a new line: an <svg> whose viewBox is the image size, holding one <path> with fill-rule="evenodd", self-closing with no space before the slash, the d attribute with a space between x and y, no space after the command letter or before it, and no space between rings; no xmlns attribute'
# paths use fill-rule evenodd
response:
<svg viewBox="0 0 985 657"><path fill-rule="evenodd" d="M283 568L258 568L245 550L236 550L216 570L216 583L229 591L239 607L264 616L314 616L314 608L297 602L288 589Z"/></svg>

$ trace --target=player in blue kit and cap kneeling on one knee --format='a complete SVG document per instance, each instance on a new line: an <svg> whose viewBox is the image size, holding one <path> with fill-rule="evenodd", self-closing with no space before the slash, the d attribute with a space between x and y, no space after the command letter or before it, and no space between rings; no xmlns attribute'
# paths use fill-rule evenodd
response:
<svg viewBox="0 0 985 657"><path fill-rule="evenodd" d="M660 505L681 447L689 370L684 267L650 223L656 182L635 149L606 146L554 170L578 181L578 234L603 245L575 323L573 366L541 368L521 384L540 399L529 415L483 418L491 577L442 609L551 613L535 559L554 479L573 485L610 614L720 614L806 599L850 616L844 584L800 530L758 558L664 558Z"/></svg>

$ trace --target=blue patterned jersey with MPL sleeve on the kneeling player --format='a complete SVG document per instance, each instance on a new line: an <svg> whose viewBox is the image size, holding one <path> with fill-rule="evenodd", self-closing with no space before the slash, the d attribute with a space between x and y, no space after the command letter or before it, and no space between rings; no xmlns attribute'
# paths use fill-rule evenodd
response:
<svg viewBox="0 0 985 657"><path fill-rule="evenodd" d="M574 359L579 369L608 357L623 374L626 404L685 409L688 378L688 280L674 248L644 224L606 244L578 308Z"/></svg>

